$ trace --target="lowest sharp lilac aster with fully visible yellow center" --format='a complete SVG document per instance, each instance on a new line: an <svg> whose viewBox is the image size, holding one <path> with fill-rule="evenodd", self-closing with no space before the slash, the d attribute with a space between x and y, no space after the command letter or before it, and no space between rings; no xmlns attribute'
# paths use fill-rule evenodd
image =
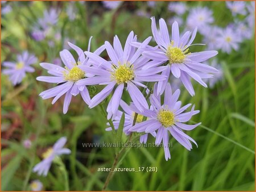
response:
<svg viewBox="0 0 256 192"><path fill-rule="evenodd" d="M154 92L156 89L154 90ZM135 106L132 106L135 112L146 116L147 120L142 123L135 124L129 131L133 132L145 132L151 133L157 131L155 144L160 145L163 142L164 156L166 161L171 158L168 148L169 133L174 137L181 145L183 145L189 151L192 149L190 141L196 144L196 141L186 135L183 130L190 131L199 126L201 123L188 125L184 122L188 122L193 115L199 113L199 110L194 110L195 105L192 106L191 111L184 112L191 104L181 107L181 102L177 101L180 95L180 90L177 89L172 94L171 85L167 84L164 91L164 102L161 104L160 95L152 94L150 97L150 104L153 111L145 109L143 112L139 112ZM197 144L196 144L197 146Z"/></svg>

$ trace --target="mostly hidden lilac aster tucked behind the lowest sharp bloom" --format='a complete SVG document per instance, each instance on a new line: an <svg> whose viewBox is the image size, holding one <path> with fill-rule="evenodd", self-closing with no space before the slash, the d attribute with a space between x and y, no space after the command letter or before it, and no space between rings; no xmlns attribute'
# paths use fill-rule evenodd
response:
<svg viewBox="0 0 256 192"><path fill-rule="evenodd" d="M126 135L130 135L129 129L131 127L133 127L133 120L134 120L135 112L122 99L120 101L120 106L122 107L123 111L125 112L125 123L124 123L124 126L123 126L123 132L125 132ZM123 114L122 111L119 111L119 110L117 111L117 116L115 116L115 119L113 121L115 130L118 129L122 114ZM143 119L143 115L138 114L135 124L141 123L142 119ZM107 125L110 126L109 123L107 123ZM108 127L108 128L106 128L106 131L112 131L112 128ZM155 131L151 132L151 135L155 137L156 132ZM140 137L140 142L141 143L146 143L147 142L147 137L148 137L148 133L142 135Z"/></svg>

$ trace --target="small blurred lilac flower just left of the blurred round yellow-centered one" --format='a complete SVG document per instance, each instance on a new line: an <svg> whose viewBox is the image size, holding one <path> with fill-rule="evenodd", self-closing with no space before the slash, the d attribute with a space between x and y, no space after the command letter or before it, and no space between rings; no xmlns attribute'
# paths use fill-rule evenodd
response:
<svg viewBox="0 0 256 192"><path fill-rule="evenodd" d="M203 38L203 43L207 44L207 50L212 50L212 49L217 49L217 37L221 33L221 28L217 26L207 26L205 27L204 32L202 35L204 36Z"/></svg>

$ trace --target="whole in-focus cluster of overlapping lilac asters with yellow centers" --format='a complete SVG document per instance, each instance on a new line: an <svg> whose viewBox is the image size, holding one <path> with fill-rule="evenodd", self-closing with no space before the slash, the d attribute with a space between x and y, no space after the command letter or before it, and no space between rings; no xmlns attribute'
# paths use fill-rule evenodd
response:
<svg viewBox="0 0 256 192"><path fill-rule="evenodd" d="M49 63L40 65L48 70L54 77L41 76L38 81L57 84L49 90L40 93L43 99L54 97L55 103L65 94L63 112L68 111L72 95L81 94L84 102L89 108L101 105L105 99L110 99L106 111L107 118L113 120L115 130L117 130L121 120L121 106L125 112L125 124L123 132L130 135L131 132L143 132L140 141L146 143L148 133L156 138L155 143L159 145L163 142L166 160L170 158L168 149L168 132L185 148L192 149L189 141L196 143L183 130L192 130L200 123L187 125L193 115L199 111L194 110L184 112L191 104L181 107L178 101L180 90L172 93L171 85L168 83L172 75L180 82L193 96L195 91L191 79L207 87L203 80L211 78L218 70L209 66L204 61L217 55L217 51L203 51L191 53L189 48L195 40L197 28L193 32L187 31L180 36L177 22L172 24L172 34L169 35L167 24L164 19L159 20L160 30L156 28L155 18L151 18L151 29L156 42L156 47L149 45L151 37L142 43L137 41L137 36L131 31L122 46L118 36L114 36L113 45L105 41L104 45L94 52L90 52L90 40L88 51L69 43L79 56L75 60L67 49L60 52L61 60L65 68ZM109 60L101 56L106 50ZM152 92L149 84L154 84ZM101 91L90 98L88 87L102 85ZM142 91L143 89L143 91ZM122 100L122 95L127 91L130 95L131 103L127 105ZM164 93L164 102L161 103L161 95ZM110 96L110 97L109 97ZM147 98L150 98L148 105ZM134 123L135 122L135 123ZM110 124L108 124L110 126ZM111 130L107 128L106 130Z"/></svg>

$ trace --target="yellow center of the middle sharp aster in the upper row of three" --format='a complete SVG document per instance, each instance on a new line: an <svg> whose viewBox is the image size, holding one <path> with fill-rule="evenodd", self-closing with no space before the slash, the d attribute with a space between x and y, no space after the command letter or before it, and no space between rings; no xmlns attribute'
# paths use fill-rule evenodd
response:
<svg viewBox="0 0 256 192"><path fill-rule="evenodd" d="M112 77L117 82L117 84L127 83L134 78L133 65L113 65L114 72Z"/></svg>

